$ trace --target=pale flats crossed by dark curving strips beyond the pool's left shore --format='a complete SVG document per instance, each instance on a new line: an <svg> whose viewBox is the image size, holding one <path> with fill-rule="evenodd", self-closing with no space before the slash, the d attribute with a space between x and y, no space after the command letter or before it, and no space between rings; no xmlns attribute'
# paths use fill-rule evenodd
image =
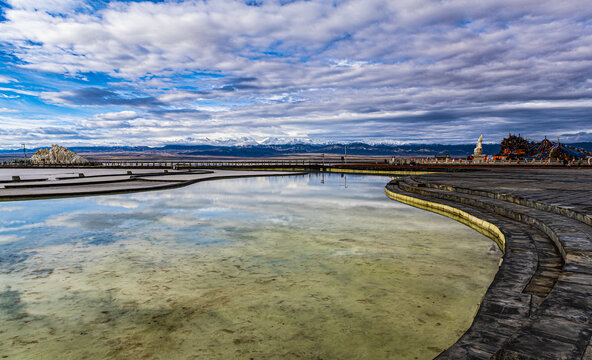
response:
<svg viewBox="0 0 592 360"><path fill-rule="evenodd" d="M214 179L295 174L299 173L232 170L0 169L0 201L162 190ZM13 176L18 176L19 179L13 180Z"/></svg>

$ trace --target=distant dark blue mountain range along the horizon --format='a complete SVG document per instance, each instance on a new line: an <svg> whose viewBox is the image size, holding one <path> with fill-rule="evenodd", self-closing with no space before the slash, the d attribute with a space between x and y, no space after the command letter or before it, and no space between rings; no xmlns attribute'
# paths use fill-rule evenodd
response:
<svg viewBox="0 0 592 360"><path fill-rule="evenodd" d="M453 157L464 157L473 153L475 144L443 145L443 144L258 144L258 145L165 145L161 147L148 146L85 146L69 147L79 154L168 154L191 156L231 156L231 157L267 157L294 154L343 154L347 145L348 155L381 155L381 156L430 156L450 154ZM592 151L592 142L569 144ZM27 149L32 155L37 149ZM496 154L500 151L499 144L483 144L483 153ZM0 154L21 155L22 149L0 150Z"/></svg>

